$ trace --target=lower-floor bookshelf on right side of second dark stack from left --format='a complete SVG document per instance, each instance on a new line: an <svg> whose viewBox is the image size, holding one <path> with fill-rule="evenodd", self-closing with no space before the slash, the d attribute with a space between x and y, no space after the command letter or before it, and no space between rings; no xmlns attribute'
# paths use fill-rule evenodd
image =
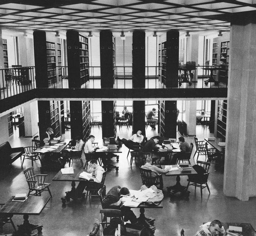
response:
<svg viewBox="0 0 256 236"><path fill-rule="evenodd" d="M90 101L82 101L82 139L86 140L91 133L91 105Z"/></svg>

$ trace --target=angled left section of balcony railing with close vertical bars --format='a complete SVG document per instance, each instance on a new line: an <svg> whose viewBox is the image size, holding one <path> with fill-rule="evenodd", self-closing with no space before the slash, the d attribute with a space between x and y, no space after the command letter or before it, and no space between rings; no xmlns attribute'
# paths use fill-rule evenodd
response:
<svg viewBox="0 0 256 236"><path fill-rule="evenodd" d="M0 100L32 90L35 87L35 66L0 70Z"/></svg>

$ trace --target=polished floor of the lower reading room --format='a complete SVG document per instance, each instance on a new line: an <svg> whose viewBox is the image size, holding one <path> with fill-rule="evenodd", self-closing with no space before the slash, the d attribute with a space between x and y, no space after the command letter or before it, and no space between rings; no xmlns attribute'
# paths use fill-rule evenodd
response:
<svg viewBox="0 0 256 236"><path fill-rule="evenodd" d="M131 130L127 132L125 127L118 130L118 135L121 138L130 136ZM96 140L100 140L101 128L93 127L92 133L95 134ZM156 132L156 131L154 131ZM150 128L147 129L147 136L153 136L155 133ZM200 125L197 125L197 137L200 140L210 135L208 128L204 130ZM69 132L65 136L68 138ZM193 142L193 138L186 137L187 142ZM30 138L10 139L11 145L25 146L30 144ZM123 153L120 155L119 171L111 170L106 176L107 190L115 185L127 186L130 189L139 189L141 187L141 177L139 170L132 165L130 167L130 158L126 159L126 147L123 148ZM84 158L84 157L83 157ZM116 162L113 159L113 162ZM116 164L116 163L115 163ZM78 164L79 165L79 164ZM28 191L23 170L31 166L29 161L24 162L23 169L20 165L20 160L13 163L11 171L1 170L0 172L0 202L6 202L12 195ZM75 165L74 165L75 166ZM36 173L40 173L40 163L35 164ZM62 206L60 198L64 196L65 191L70 190L70 183L52 182L52 178L56 175L56 171L45 171L48 174L47 181L51 183L51 192L53 198L49 201L46 208L40 216L30 216L31 223L43 224L43 236L84 236L89 233L92 227L94 218L100 219L99 211L101 209L100 201L97 198L70 202L66 206ZM233 197L223 195L223 170L216 170L214 165L210 167L209 186L211 194L207 189L203 190L203 197L200 197L200 190L196 192L190 187L191 194L189 199L180 197L179 194L169 196L166 192L166 187L174 185L175 177L163 177L164 183L164 199L163 209L146 209L146 216L152 216L156 219L156 236L172 236L180 235L180 230L184 228L186 236L194 235L198 227L205 221L219 219L226 222L244 222L251 223L254 229L256 228L256 197L250 198L247 202L241 202ZM187 184L187 177L181 177L181 184ZM45 193L47 194L47 192ZM134 210L139 216L139 210ZM22 223L22 216L14 216L15 225ZM5 232L11 230L11 227L4 226Z"/></svg>

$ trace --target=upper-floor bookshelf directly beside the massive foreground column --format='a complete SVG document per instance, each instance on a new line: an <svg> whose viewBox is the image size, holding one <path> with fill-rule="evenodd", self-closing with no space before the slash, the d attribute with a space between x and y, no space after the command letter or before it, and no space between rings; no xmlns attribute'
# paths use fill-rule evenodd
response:
<svg viewBox="0 0 256 236"><path fill-rule="evenodd" d="M220 82L228 82L228 60L229 60L229 41L221 42L221 68L220 68Z"/></svg>

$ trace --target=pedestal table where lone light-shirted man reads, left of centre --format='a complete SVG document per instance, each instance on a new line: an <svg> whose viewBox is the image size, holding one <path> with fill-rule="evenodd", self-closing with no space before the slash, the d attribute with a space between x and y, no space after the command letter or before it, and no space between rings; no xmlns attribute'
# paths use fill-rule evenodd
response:
<svg viewBox="0 0 256 236"><path fill-rule="evenodd" d="M80 173L85 171L83 168L74 169L74 174L63 175L61 170L53 177L52 181L63 181L63 182L71 182L71 190L65 192L66 196L61 198L62 204L65 205L66 201L69 202L70 198L76 201L76 183L88 181L86 179L79 178Z"/></svg>

